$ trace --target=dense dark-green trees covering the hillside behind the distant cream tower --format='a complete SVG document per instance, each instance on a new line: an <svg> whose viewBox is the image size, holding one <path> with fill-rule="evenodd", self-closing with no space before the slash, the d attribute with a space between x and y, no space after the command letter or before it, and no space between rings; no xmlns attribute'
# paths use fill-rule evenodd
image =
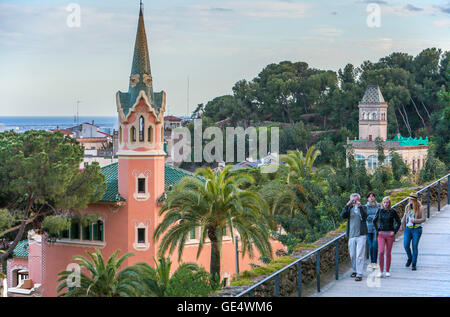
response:
<svg viewBox="0 0 450 317"><path fill-rule="evenodd" d="M337 73L284 61L266 66L251 81L238 81L232 95L199 105L195 115L202 109L211 125L226 119L231 126L277 123L283 130L281 153L316 143L321 160L336 161L334 152L342 148L333 134L341 139L358 135L358 103L368 84L378 84L389 103L388 138L398 132L432 136L436 158L449 166L449 61L450 52L437 48L417 56L395 52L375 63L348 64Z"/></svg>

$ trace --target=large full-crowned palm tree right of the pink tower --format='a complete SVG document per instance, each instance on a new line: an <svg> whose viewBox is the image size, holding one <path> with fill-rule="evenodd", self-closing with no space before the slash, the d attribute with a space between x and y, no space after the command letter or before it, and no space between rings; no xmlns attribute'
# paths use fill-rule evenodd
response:
<svg viewBox="0 0 450 317"><path fill-rule="evenodd" d="M244 189L254 182L245 173L213 172L210 168L198 169L195 176L185 177L170 192L160 210L164 219L155 230L154 238L161 238L160 255L173 253L178 248L181 259L188 235L200 228L197 258L206 239L211 243L210 274L220 279L220 251L225 230L240 235L242 253L253 257L254 248L261 255L271 257L269 243L270 220L265 201L254 192Z"/></svg>

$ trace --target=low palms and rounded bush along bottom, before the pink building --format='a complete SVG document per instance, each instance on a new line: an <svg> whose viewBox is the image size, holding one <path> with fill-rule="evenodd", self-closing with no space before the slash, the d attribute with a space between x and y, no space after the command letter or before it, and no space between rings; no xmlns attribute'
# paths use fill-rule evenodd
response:
<svg viewBox="0 0 450 317"><path fill-rule="evenodd" d="M64 297L196 297L208 296L214 291L210 275L194 263L182 263L170 274L170 259L159 258L155 268L147 263L136 263L121 270L132 253L118 257L114 252L105 261L97 249L88 258L74 257L82 270L60 272L58 292Z"/></svg>

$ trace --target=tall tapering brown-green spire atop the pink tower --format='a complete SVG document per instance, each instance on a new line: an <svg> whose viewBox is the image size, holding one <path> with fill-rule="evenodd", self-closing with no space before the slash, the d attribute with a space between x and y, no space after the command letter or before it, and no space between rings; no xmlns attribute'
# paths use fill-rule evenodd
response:
<svg viewBox="0 0 450 317"><path fill-rule="evenodd" d="M139 7L139 21L134 46L133 64L130 76L130 101L135 102L139 92L144 90L148 99L153 100L153 83L148 53L147 35L145 32L142 0Z"/></svg>

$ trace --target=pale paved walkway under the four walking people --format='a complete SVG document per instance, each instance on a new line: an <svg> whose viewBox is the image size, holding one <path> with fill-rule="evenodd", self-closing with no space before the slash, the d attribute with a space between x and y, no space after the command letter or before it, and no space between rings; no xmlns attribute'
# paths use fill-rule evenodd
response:
<svg viewBox="0 0 450 317"><path fill-rule="evenodd" d="M405 267L405 262L402 235L392 248L390 277L377 278L376 273L366 270L363 281L355 282L348 271L313 296L450 297L450 205L441 208L441 212L431 210L419 242L417 271Z"/></svg>

